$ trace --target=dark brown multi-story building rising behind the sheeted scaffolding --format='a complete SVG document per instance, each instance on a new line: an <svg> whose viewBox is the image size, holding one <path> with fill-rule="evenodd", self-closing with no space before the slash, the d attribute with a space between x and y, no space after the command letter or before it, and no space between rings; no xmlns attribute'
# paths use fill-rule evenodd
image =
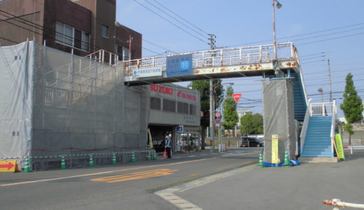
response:
<svg viewBox="0 0 364 210"><path fill-rule="evenodd" d="M0 45L34 40L80 56L141 58L141 34L116 22L116 0L3 0L0 8Z"/></svg>

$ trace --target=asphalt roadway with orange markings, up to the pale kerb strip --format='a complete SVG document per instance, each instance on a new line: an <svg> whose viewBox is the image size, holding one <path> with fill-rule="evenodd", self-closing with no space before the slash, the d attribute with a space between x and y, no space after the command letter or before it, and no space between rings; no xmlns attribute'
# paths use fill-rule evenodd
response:
<svg viewBox="0 0 364 210"><path fill-rule="evenodd" d="M258 149L258 150L257 150ZM175 153L172 159L0 174L0 209L178 209L156 190L258 162L261 148Z"/></svg>

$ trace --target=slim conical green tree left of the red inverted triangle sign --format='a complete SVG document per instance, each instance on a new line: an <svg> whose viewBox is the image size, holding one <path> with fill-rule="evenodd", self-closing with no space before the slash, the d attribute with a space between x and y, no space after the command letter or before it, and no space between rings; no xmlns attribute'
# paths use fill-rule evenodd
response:
<svg viewBox="0 0 364 210"><path fill-rule="evenodd" d="M232 87L226 89L226 99L223 103L223 118L224 122L221 123L226 130L232 130L239 120L237 116L237 103L231 95L234 93Z"/></svg>

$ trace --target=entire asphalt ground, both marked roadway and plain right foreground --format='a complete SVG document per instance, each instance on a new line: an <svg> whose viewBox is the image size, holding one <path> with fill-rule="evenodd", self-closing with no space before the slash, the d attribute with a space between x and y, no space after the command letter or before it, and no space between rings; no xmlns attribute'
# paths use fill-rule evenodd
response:
<svg viewBox="0 0 364 210"><path fill-rule="evenodd" d="M364 151L337 163L257 168L261 150L0 174L0 209L331 209L322 200L334 198L364 203Z"/></svg>

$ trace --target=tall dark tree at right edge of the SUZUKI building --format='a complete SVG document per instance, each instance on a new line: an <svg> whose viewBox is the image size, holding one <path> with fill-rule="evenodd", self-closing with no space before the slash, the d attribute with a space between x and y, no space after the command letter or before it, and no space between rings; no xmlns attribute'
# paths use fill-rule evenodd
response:
<svg viewBox="0 0 364 210"><path fill-rule="evenodd" d="M221 85L221 79L215 79L213 81L213 86L216 87L217 85ZM200 91L201 97L200 97L200 102L201 102L201 111L204 113L204 116L201 118L201 127L202 127L202 133L201 133L201 139L202 139L202 149L204 149L204 145L205 145L205 130L207 127L210 126L210 81L209 80L195 80L192 81L188 87L191 87L194 90L198 90ZM221 85L220 87L216 88L215 92L214 92L214 96L215 96L215 109L216 107L218 107L220 104L218 104L218 102L220 102L220 99L223 97L223 85Z"/></svg>

